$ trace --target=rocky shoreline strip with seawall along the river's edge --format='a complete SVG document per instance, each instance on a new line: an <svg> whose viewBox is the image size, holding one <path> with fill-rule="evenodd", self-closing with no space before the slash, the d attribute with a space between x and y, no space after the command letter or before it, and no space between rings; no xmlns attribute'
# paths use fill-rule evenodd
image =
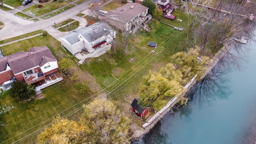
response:
<svg viewBox="0 0 256 144"><path fill-rule="evenodd" d="M228 48L228 49L227 49ZM208 68L207 68L207 72L200 78L200 80L202 80L213 68L214 66L221 60L221 58L228 52L229 47L226 46L223 47L218 53L215 54L215 56L210 60L210 63L208 64ZM193 81L190 86L188 86L187 90L189 90L190 88L192 88L192 86L194 86L194 84L196 84L196 80ZM185 94L184 94L185 95ZM183 96L184 96L183 95ZM178 99L177 99L178 100ZM132 130L133 135L132 138L134 140L138 139L140 136L148 133L154 126L155 124L164 117L165 114L167 114L172 107L176 104L177 100L175 100L174 102L172 102L172 104L166 109L164 110L164 112L160 113L158 115L158 117L150 124L148 125L146 128L142 128L142 127L138 127L136 130Z"/></svg>

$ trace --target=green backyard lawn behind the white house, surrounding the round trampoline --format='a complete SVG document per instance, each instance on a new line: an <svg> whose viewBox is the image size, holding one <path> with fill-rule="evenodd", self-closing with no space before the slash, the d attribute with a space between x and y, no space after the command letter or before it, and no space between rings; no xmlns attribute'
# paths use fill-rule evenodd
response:
<svg viewBox="0 0 256 144"><path fill-rule="evenodd" d="M104 54L98 58L93 58L84 63L82 67L86 69L96 81L107 90L111 90L121 80L128 76L130 80L133 78L140 79L148 73L148 70L158 67L158 63L167 64L172 54L182 50L180 43L186 38L186 32L174 30L172 27L160 23L158 20L153 20L150 24L152 30L148 32L139 32L134 38L130 38L128 44L128 54L124 54L124 42L121 41L117 46L117 52L111 49L111 55ZM118 34L119 40L122 38ZM148 42L155 41L158 47L152 48L148 46ZM155 50L152 53L151 50ZM129 60L132 60L130 62ZM152 66L152 63L156 63ZM135 70L135 71L134 71ZM135 74L138 72L138 74ZM129 82L128 82L129 83ZM130 84L138 88L138 84ZM117 88L117 90L120 88Z"/></svg>

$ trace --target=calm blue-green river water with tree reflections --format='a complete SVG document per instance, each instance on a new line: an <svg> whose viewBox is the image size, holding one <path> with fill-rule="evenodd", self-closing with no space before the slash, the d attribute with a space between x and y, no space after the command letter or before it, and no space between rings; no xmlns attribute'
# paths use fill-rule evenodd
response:
<svg viewBox="0 0 256 144"><path fill-rule="evenodd" d="M190 89L187 106L166 114L132 144L254 143L256 44L248 42L246 50L240 67L224 57L208 77Z"/></svg>

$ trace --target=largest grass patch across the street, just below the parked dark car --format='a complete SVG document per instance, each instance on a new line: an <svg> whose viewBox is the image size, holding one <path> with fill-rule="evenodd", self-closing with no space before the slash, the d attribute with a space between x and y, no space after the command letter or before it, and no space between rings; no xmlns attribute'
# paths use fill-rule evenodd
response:
<svg viewBox="0 0 256 144"><path fill-rule="evenodd" d="M47 14L49 12L52 12L58 8L61 8L62 6L66 6L68 2L50 2L46 4L41 4L43 7L38 8L39 4L34 4L33 6L30 6L29 8L26 8L23 10L24 12L27 12L28 14L32 14L33 16L41 16L43 14Z"/></svg>

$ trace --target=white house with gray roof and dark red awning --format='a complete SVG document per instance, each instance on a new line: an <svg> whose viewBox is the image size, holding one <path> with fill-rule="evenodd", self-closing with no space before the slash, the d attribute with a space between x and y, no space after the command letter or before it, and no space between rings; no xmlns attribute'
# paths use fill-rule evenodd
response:
<svg viewBox="0 0 256 144"><path fill-rule="evenodd" d="M76 55L82 51L95 52L111 43L114 38L116 38L116 31L106 23L97 22L61 36L60 40L62 46Z"/></svg>

